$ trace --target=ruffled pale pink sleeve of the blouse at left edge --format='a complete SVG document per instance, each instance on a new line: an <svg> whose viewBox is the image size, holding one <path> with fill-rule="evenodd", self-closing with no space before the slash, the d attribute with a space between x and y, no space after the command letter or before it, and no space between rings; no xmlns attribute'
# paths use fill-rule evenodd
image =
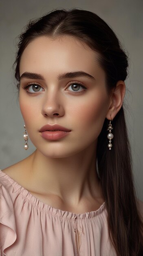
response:
<svg viewBox="0 0 143 256"><path fill-rule="evenodd" d="M16 240L16 224L13 202L7 189L0 183L0 255Z"/></svg>

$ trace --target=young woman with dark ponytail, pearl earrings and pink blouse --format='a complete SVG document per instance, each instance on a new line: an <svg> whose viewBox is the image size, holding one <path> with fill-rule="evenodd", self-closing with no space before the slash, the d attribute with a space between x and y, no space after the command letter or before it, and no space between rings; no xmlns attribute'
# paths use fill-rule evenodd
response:
<svg viewBox="0 0 143 256"><path fill-rule="evenodd" d="M123 98L128 58L90 11L55 10L20 35L15 61L24 148L0 171L7 256L141 256Z"/></svg>

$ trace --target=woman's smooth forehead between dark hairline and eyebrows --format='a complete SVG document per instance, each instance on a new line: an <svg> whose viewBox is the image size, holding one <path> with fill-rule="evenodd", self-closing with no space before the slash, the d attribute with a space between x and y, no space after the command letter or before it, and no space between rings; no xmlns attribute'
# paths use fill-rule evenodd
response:
<svg viewBox="0 0 143 256"><path fill-rule="evenodd" d="M32 40L24 49L20 61L20 73L23 69L37 67L41 69L63 68L66 70L84 70L95 73L101 70L98 62L99 54L88 45L73 37L51 39L40 36ZM26 70L27 71L27 70ZM91 75L92 75L91 74Z"/></svg>

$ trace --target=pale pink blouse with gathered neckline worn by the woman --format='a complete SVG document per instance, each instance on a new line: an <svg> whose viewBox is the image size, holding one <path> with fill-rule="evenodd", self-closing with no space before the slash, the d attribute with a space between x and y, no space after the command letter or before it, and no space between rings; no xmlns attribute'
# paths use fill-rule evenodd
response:
<svg viewBox="0 0 143 256"><path fill-rule="evenodd" d="M55 209L0 170L0 256L116 256L105 202L81 214Z"/></svg>

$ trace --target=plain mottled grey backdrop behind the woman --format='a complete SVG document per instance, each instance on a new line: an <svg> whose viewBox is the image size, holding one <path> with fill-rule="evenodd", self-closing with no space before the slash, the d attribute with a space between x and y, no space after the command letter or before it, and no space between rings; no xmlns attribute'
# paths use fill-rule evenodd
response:
<svg viewBox="0 0 143 256"><path fill-rule="evenodd" d="M1 0L0 1L0 169L24 159L35 150L24 150L22 118L12 65L15 38L31 18L56 8L86 9L97 13L115 31L129 52L126 80L126 121L132 146L133 172L138 198L143 201L143 0Z"/></svg>

